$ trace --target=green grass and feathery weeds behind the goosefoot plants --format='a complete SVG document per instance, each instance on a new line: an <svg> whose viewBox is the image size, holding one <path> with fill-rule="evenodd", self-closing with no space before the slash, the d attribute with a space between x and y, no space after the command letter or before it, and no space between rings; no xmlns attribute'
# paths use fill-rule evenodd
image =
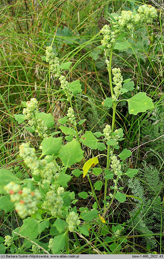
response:
<svg viewBox="0 0 164 259"><path fill-rule="evenodd" d="M36 97L40 107L50 112L58 130L58 119L66 115L67 107L62 100L60 83L49 76L49 67L41 59L46 46L51 45L56 34L53 50L58 57L72 61L68 80L80 79L83 92L74 101L74 111L80 119L86 119L85 130L101 131L111 124L112 111L102 108L102 101L109 95L109 77L103 53L97 46L102 36L99 31L108 23L108 13L133 10L139 4L153 4L158 9L158 18L153 25L131 35L132 48L117 52L113 66L122 68L123 78L133 78L134 92L145 91L155 104L152 112L129 115L126 102L118 106L117 127L126 132L121 148L129 148L133 156L125 167L140 168L132 180L124 179L120 184L129 195L142 199L143 207L139 214L138 201L128 200L120 204L113 202L109 222L122 224L129 220L126 236L128 245L122 252L163 253L163 153L164 153L164 52L163 52L163 1L13 1L2 0L0 4L0 166L10 169L18 177L28 178L28 170L18 156L19 145L25 140L33 146L39 146L37 135L27 133L23 124L17 124L13 114L22 112L21 101ZM148 35L148 36L147 36ZM131 92L128 95L133 95ZM124 94L124 99L129 98ZM82 126L79 126L82 127ZM54 131L54 130L53 130ZM59 134L60 135L60 134ZM37 148L37 147L36 147ZM85 158L91 158L90 149L85 148ZM102 161L103 165L103 161ZM78 193L90 191L86 178L74 177L68 187ZM94 185L94 174L91 181ZM97 191L97 197L103 195L103 189ZM79 197L78 197L79 198ZM91 196L87 200L79 199L77 208L90 208L94 203ZM1 215L1 236L11 235L11 231L22 225L22 220L13 212ZM130 222L131 218L134 218ZM144 217L143 217L144 215ZM142 218L142 219L141 219ZM136 226L136 227L134 227ZM104 230L105 231L105 230ZM129 231L129 232L128 232ZM105 232L104 232L105 233ZM95 244L95 232L88 238ZM150 238L151 236L151 238ZM47 237L46 234L43 237ZM76 241L72 238L72 246ZM148 240L149 239L149 240ZM72 253L93 253L91 245L76 248ZM76 243L77 245L77 243ZM127 246L127 248L126 248ZM98 249L106 251L102 241ZM24 252L29 252L28 249Z"/></svg>

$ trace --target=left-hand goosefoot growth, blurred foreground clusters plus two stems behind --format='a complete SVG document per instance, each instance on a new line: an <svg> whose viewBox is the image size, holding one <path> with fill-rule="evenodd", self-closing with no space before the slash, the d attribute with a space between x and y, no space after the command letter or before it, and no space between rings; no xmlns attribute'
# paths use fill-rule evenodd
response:
<svg viewBox="0 0 164 259"><path fill-rule="evenodd" d="M56 60L58 59L55 58L55 62ZM64 68L67 68L67 64L64 65ZM55 66L53 66L52 72L55 71L54 69ZM61 87L71 105L64 118L71 126L65 127L72 132L70 142L64 145L62 137L50 135L50 129L54 127L52 115L39 112L38 101L36 98L31 98L27 102L22 102L25 107L23 115L14 116L18 123L27 121L29 126L27 127L26 123L25 129L38 133L39 137L43 139L38 151L30 147L29 143L23 143L19 147L19 156L31 171L32 178L21 181L9 170L0 170L1 177L5 175L4 182L0 186L1 194L4 194L0 198L0 208L6 213L15 208L18 216L24 219L22 227L17 228L13 235L16 235L16 238L23 235L35 239L42 231L49 228L49 235L55 237L51 246L47 245L47 249L54 254L65 249L68 231L88 232L87 228L79 227L81 221L76 207L71 206L76 203L74 192L66 191L67 183L72 178L66 174L67 168L84 158L84 151L79 143L80 132L76 128L76 116L71 103L73 95L81 92L82 89L79 80L69 84L66 78L59 73L61 73L61 67L58 67L58 74L56 72L55 77L60 75ZM79 120L79 125L83 121L85 120ZM67 135L64 129L61 131ZM52 132L52 135L54 133ZM65 138L67 137L65 136ZM41 152L40 156L38 152ZM17 251L16 247L13 250ZM32 252L36 251L40 251L40 248L36 249L36 246L33 246Z"/></svg>

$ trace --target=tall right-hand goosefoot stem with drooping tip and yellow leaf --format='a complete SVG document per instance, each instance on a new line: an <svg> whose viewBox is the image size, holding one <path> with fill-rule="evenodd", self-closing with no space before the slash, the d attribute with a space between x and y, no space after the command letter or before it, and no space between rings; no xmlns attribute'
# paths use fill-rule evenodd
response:
<svg viewBox="0 0 164 259"><path fill-rule="evenodd" d="M129 168L126 173L123 173L122 164L124 160L132 155L130 150L125 148L118 156L116 156L114 152L115 149L119 149L119 141L124 139L123 129L115 129L116 107L121 101L121 99L119 99L120 95L128 91L132 92L134 90L134 82L131 81L131 78L123 80L120 68L112 68L113 49L122 50L130 47L130 43L127 40L124 40L124 35L126 35L125 33L128 35L131 30L135 30L137 27L141 27L140 23L142 23L142 26L144 26L146 23L152 23L154 19L157 18L157 10L150 5L142 5L138 9L138 13L136 13L136 11L133 13L131 11L122 11L121 16L118 16L114 13L110 15L110 18L112 20L110 21L112 25L105 25L100 31L100 33L103 35L103 39L101 41L102 46L100 46L100 48L104 50L107 70L109 72L109 84L111 92L111 97L106 97L102 104L103 106L107 106L113 109L112 125L107 124L103 129L103 133L92 133L91 131L86 131L85 134L80 138L80 142L83 145L90 147L91 149L105 150L107 146L107 155L100 154L94 158L91 158L83 166L83 177L87 175L89 179L88 171L92 171L93 174L98 174L99 171L99 174L103 173L104 175L104 214L103 217L100 218L103 223L104 220L106 220L105 215L108 213L108 209L112 205L113 200L116 199L119 202L124 202L126 200L127 196L122 191L124 188L119 187L119 179L123 180L124 176L132 178L138 172L138 169ZM122 41L120 39L122 39ZM147 110L154 108L154 104L151 98L148 97L144 92L139 92L136 95L133 95L133 97L130 99L126 99L126 101L128 102L129 113L133 115L137 115L139 112L146 112ZM100 137L101 139L98 139ZM104 145L104 142L106 145ZM99 163L99 156L107 156L107 164L105 170L97 168L99 170L96 171L93 167ZM112 180L112 185L110 185L110 187L108 186L108 180L110 180L110 182ZM96 208L100 208L100 202L98 201L94 190L100 190L102 186L103 182L100 180L100 176L98 181L94 184L94 188L91 186L92 194L97 202L97 205L94 205ZM82 197L82 195L84 199L86 199L87 196L84 194L84 192L83 194L80 194L80 197ZM111 246L113 247L113 244ZM114 250L110 248L112 252L116 252L118 249L118 246L114 247Z"/></svg>

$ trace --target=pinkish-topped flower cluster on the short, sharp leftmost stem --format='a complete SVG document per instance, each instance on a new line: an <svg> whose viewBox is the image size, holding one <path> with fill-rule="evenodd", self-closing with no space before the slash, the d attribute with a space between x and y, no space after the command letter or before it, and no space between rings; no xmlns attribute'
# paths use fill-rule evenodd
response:
<svg viewBox="0 0 164 259"><path fill-rule="evenodd" d="M36 98L31 98L30 101L26 102L27 108L23 109L23 114L25 115L25 119L28 120L29 125L35 126L35 132L38 133L39 137L43 136L43 138L48 137L48 135L45 133L47 131L47 127L43 120L39 118L35 118L35 114L39 113L39 110L37 108L38 101Z"/></svg>

